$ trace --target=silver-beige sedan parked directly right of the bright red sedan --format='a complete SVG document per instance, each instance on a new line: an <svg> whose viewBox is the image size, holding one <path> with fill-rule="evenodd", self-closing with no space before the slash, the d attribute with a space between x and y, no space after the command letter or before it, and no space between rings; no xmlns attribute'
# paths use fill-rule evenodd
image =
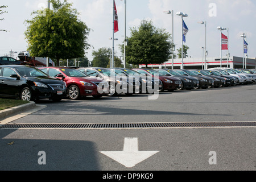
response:
<svg viewBox="0 0 256 182"><path fill-rule="evenodd" d="M106 68L79 68L77 69L82 73L90 77L101 78L109 83L109 94L108 96L115 96L117 94L131 95L134 93L139 93L141 89L141 84L138 80L131 80L126 78L126 76L118 76L116 73L110 71Z"/></svg>

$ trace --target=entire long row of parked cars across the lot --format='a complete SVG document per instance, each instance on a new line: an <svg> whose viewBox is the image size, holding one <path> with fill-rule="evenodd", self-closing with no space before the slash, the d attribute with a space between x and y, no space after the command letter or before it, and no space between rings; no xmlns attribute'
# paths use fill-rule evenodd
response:
<svg viewBox="0 0 256 182"><path fill-rule="evenodd" d="M16 97L26 101L151 94L164 90L172 92L252 84L255 81L255 69L35 68L0 65L0 97Z"/></svg>

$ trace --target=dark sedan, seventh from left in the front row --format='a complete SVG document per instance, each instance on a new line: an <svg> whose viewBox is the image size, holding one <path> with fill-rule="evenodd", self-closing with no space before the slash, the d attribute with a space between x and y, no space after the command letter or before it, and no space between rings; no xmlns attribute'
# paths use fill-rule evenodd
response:
<svg viewBox="0 0 256 182"><path fill-rule="evenodd" d="M208 87L214 86L214 80L213 78L202 76L199 72L196 71L189 71L187 69L175 69L174 71L180 73L184 76L192 76L199 80L199 86L195 87L195 89L207 89Z"/></svg>

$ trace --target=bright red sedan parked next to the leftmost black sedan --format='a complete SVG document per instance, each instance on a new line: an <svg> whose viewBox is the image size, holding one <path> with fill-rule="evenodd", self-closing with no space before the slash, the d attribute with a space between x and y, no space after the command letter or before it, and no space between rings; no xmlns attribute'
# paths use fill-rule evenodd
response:
<svg viewBox="0 0 256 182"><path fill-rule="evenodd" d="M109 85L100 78L91 78L84 73L67 67L40 67L41 71L51 77L60 78L67 84L67 94L71 100L85 96L100 98L109 92Z"/></svg>

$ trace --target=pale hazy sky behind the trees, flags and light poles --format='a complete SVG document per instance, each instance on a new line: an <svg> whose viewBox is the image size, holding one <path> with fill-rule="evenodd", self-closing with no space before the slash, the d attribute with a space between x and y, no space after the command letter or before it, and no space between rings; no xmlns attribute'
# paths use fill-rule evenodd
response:
<svg viewBox="0 0 256 182"><path fill-rule="evenodd" d="M68 0L72 7L80 13L80 20L90 28L88 43L92 45L86 52L86 57L92 61L92 51L99 48L112 48L113 35L113 0ZM119 44L125 35L125 1L115 0L118 14L119 31L114 34L114 49L116 56L122 56ZM1 0L0 5L7 5L6 14L0 15L0 56L10 55L10 51L27 51L27 40L24 32L27 27L25 20L32 19L31 13L48 6L47 0ZM247 35L248 57L256 57L256 9L255 0L126 0L127 37L130 28L138 28L142 20L152 20L156 28L163 28L172 33L172 14L164 11L174 11L174 44L176 49L181 47L181 17L176 13L181 11L188 14L184 22L189 29L186 42L189 47L188 56L202 57L205 47L205 26L198 22L207 22L207 51L208 57L220 57L220 30L218 26L228 28L222 31L229 36L230 56L243 56L243 39ZM229 32L229 33L228 33ZM177 51L176 51L177 53ZM222 56L228 53L222 51ZM14 53L18 58L18 53Z"/></svg>

